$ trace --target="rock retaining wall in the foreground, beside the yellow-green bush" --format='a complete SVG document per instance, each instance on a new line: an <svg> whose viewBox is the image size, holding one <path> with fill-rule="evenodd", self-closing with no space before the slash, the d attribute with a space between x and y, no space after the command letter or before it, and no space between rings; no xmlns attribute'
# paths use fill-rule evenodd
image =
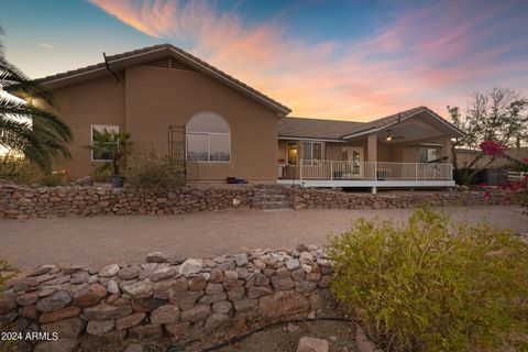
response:
<svg viewBox="0 0 528 352"><path fill-rule="evenodd" d="M43 265L19 273L0 294L0 330L22 333L19 351L38 352L186 339L234 319L334 308L331 273L322 251L306 245L186 261L152 253L132 265ZM29 341L32 332L52 341Z"/></svg>

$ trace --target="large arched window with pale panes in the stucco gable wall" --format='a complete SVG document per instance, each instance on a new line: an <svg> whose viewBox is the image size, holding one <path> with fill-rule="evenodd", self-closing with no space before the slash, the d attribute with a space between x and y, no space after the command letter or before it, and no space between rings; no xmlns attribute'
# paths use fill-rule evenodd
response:
<svg viewBox="0 0 528 352"><path fill-rule="evenodd" d="M186 127L188 162L231 161L231 129L213 112L199 112Z"/></svg>

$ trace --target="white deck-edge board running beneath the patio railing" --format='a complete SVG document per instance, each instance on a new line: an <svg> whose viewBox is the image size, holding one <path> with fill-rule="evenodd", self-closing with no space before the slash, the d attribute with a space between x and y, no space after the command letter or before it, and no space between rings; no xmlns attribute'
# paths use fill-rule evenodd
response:
<svg viewBox="0 0 528 352"><path fill-rule="evenodd" d="M302 187L454 187L454 180L351 180L351 179L277 179L280 185L299 185Z"/></svg>

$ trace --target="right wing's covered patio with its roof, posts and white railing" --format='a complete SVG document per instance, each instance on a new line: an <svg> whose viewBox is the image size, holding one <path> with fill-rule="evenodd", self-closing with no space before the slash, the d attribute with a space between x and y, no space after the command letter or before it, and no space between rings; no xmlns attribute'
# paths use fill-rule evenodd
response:
<svg viewBox="0 0 528 352"><path fill-rule="evenodd" d="M371 187L374 193L454 186L451 139L461 132L427 108L369 123L289 118L283 124L279 184Z"/></svg>

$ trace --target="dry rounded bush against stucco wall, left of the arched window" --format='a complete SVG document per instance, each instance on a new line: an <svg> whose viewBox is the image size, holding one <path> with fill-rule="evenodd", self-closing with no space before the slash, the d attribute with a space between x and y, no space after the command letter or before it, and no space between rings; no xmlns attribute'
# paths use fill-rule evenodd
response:
<svg viewBox="0 0 528 352"><path fill-rule="evenodd" d="M185 185L185 162L160 155L154 151L132 157L128 183L147 190L168 190Z"/></svg>

